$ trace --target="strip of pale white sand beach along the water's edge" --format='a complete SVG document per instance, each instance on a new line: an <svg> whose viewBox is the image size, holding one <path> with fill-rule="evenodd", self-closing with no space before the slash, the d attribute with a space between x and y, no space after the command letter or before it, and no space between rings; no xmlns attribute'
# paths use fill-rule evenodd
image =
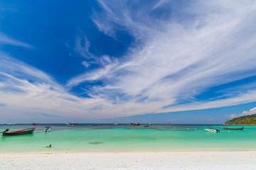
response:
<svg viewBox="0 0 256 170"><path fill-rule="evenodd" d="M256 169L256 151L0 154L0 169Z"/></svg>

